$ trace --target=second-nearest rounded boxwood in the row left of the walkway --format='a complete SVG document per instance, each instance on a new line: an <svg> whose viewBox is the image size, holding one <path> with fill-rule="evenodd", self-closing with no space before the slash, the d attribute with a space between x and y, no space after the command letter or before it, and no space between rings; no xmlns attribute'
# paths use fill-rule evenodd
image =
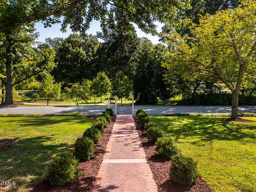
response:
<svg viewBox="0 0 256 192"><path fill-rule="evenodd" d="M74 155L80 161L89 160L94 155L94 142L89 137L78 138L75 142Z"/></svg>

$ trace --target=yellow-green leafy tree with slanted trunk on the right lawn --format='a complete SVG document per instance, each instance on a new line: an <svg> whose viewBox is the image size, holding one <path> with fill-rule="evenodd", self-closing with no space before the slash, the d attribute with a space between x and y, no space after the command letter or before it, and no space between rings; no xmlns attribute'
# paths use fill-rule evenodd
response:
<svg viewBox="0 0 256 192"><path fill-rule="evenodd" d="M244 75L256 69L255 7L255 1L242 1L241 7L202 17L191 29L195 38L182 37L175 31L166 36L172 51L164 66L174 70L183 65L191 75L217 77L232 93L231 119L238 117Z"/></svg>

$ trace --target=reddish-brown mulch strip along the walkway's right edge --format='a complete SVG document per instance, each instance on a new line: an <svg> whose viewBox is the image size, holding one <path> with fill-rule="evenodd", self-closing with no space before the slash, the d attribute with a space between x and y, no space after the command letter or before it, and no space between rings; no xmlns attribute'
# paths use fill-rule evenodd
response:
<svg viewBox="0 0 256 192"><path fill-rule="evenodd" d="M142 130L139 126L139 119L137 116L133 116L137 131L139 133L140 141L146 153L147 162L153 173L153 178L156 181L157 189L159 192L187 192L187 191L203 191L210 192L211 189L202 177L199 177L195 184L192 186L183 186L175 183L169 179L169 171L171 167L171 159L169 157L163 157L156 152L156 146L152 142L148 142L145 130Z"/></svg>

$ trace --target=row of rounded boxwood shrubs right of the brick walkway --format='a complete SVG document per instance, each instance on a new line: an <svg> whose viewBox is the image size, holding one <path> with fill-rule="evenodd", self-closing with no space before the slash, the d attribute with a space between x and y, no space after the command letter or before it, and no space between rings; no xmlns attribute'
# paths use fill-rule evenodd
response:
<svg viewBox="0 0 256 192"><path fill-rule="evenodd" d="M191 157L182 155L173 138L165 137L164 132L156 123L150 121L144 110L139 109L136 115L139 118L140 127L147 132L148 140L155 143L157 152L172 158L170 179L183 185L194 183L198 177L197 162Z"/></svg>

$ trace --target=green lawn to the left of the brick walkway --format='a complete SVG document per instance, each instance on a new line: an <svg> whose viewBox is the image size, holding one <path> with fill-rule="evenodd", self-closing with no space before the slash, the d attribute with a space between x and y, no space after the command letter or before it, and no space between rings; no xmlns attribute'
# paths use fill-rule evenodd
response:
<svg viewBox="0 0 256 192"><path fill-rule="evenodd" d="M16 181L18 188L42 181L51 158L69 151L92 124L86 118L70 116L0 117L0 121L0 143L14 141L7 149L0 148L0 181Z"/></svg>

